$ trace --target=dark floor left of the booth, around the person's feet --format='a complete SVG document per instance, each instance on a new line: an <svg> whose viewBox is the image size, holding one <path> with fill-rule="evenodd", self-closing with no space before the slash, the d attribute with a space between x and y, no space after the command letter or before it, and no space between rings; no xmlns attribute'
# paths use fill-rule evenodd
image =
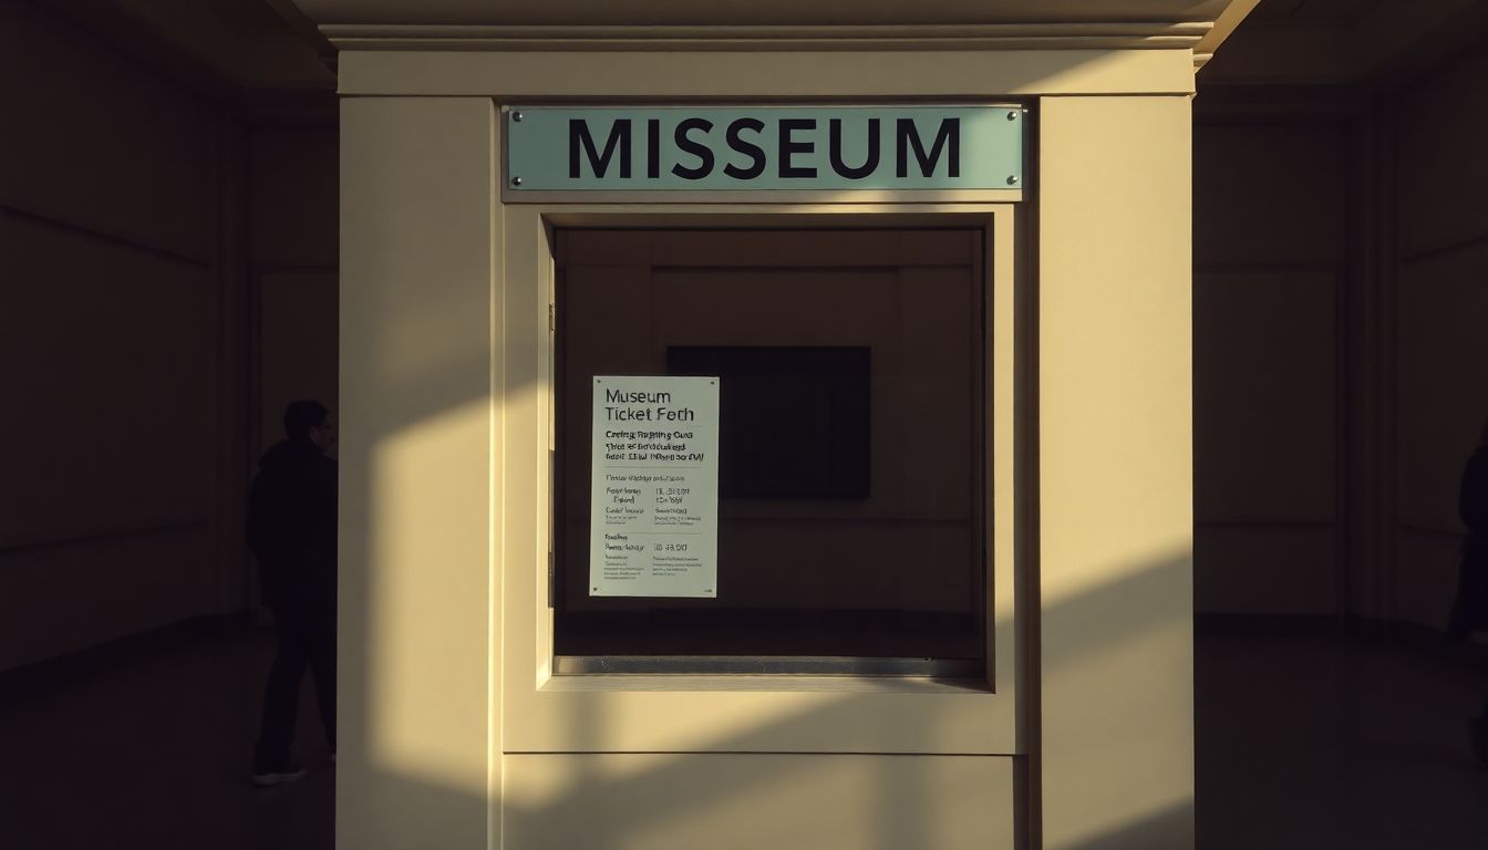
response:
<svg viewBox="0 0 1488 850"><path fill-rule="evenodd" d="M0 704L0 849L329 850L335 771L308 676L310 774L248 782L272 649L259 630Z"/></svg>

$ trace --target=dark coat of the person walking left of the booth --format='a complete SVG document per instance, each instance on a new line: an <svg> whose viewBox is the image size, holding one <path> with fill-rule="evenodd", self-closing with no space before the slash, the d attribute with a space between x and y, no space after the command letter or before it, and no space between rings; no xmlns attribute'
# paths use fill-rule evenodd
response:
<svg viewBox="0 0 1488 850"><path fill-rule="evenodd" d="M263 453L247 531L269 607L335 610L336 461L320 447L296 438Z"/></svg>

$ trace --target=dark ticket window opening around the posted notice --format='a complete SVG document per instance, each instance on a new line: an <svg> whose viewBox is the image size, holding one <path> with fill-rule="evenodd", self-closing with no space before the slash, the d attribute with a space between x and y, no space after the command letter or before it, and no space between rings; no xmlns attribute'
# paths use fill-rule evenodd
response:
<svg viewBox="0 0 1488 850"><path fill-rule="evenodd" d="M981 229L555 234L557 673L981 677ZM717 594L592 595L594 380L719 378Z"/></svg>

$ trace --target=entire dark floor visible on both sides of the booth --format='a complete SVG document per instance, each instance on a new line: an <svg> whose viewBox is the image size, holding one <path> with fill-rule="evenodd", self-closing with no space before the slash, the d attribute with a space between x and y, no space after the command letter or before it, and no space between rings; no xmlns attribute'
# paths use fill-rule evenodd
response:
<svg viewBox="0 0 1488 850"><path fill-rule="evenodd" d="M1202 850L1482 850L1488 770L1461 658L1201 637ZM307 779L248 783L268 631L159 652L0 706L4 850L329 850L335 771L304 688Z"/></svg>

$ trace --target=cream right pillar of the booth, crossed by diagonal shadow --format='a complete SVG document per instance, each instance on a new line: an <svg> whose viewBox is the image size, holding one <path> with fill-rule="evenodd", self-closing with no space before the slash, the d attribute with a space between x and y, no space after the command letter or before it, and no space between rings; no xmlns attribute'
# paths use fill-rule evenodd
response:
<svg viewBox="0 0 1488 850"><path fill-rule="evenodd" d="M1043 847L1192 847L1189 98L1039 121Z"/></svg>

